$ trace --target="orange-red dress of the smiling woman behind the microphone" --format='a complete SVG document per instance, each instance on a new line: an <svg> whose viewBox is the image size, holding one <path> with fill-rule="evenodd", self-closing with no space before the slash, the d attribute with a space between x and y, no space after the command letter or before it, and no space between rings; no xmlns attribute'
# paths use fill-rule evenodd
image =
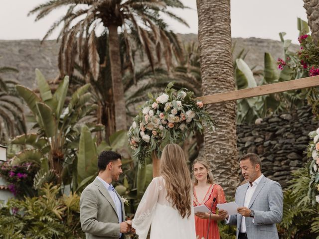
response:
<svg viewBox="0 0 319 239"><path fill-rule="evenodd" d="M206 207L208 207L209 209L213 207L212 214L216 214L216 205L218 203L226 203L224 190L218 184L210 185L203 201L200 203L198 202L196 197L195 187L194 187L193 193L194 193L194 201L193 201L194 207L203 205L203 204L205 204ZM214 205L212 205L214 198L216 198L216 200L214 202ZM208 224L209 224L209 219L201 219L195 216L195 229L196 229L196 236L198 239L207 238ZM217 221L210 220L208 239L220 239Z"/></svg>

